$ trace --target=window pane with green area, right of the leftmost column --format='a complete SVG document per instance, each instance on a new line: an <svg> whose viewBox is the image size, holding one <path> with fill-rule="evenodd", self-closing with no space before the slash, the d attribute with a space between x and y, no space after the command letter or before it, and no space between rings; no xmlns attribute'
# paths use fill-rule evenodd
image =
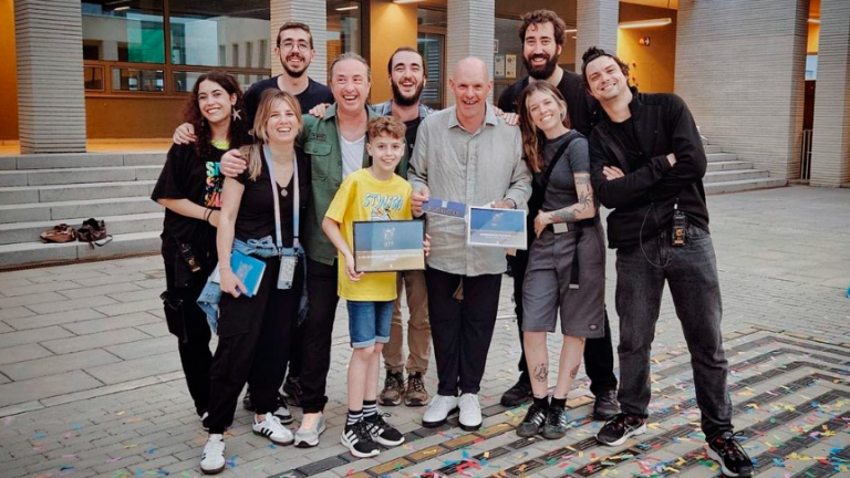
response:
<svg viewBox="0 0 850 478"><path fill-rule="evenodd" d="M83 58L165 63L163 0L84 0Z"/></svg>

